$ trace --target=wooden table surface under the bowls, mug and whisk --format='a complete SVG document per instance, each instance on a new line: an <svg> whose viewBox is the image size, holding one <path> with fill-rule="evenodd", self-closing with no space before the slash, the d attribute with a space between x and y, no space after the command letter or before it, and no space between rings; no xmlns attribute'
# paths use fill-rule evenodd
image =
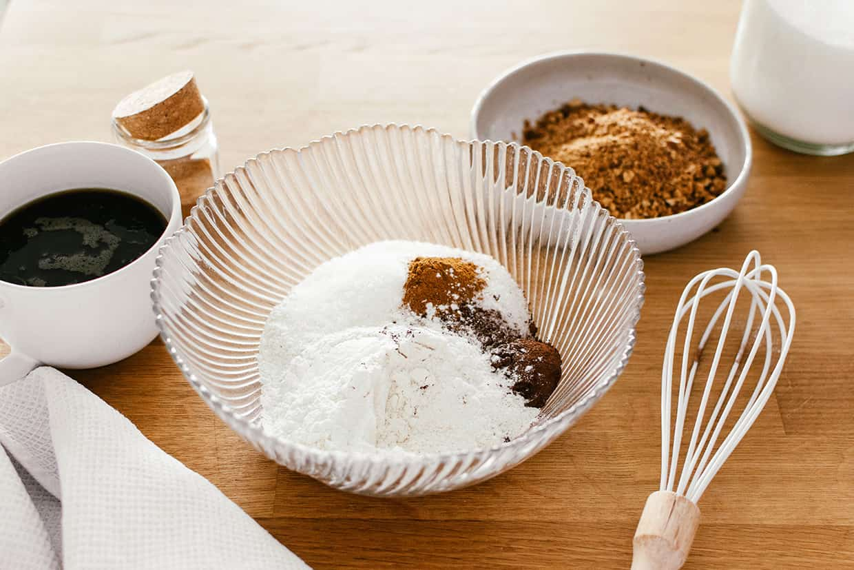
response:
<svg viewBox="0 0 854 570"><path fill-rule="evenodd" d="M0 158L109 140L114 103L181 68L211 103L226 169L363 123L465 138L483 86L553 50L651 56L728 94L739 12L734 0L175 4L13 0L0 23ZM660 367L678 293L756 248L797 304L798 330L775 397L700 502L686 568L854 567L854 155L753 144L734 214L646 258L638 343L617 385L547 450L474 488L372 499L290 473L214 417L159 341L73 377L313 567L624 568L658 486Z"/></svg>

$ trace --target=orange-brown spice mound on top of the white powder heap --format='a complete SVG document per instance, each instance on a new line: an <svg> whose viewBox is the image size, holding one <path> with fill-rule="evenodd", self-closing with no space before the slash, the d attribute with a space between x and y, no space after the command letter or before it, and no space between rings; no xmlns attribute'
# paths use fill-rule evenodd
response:
<svg viewBox="0 0 854 570"><path fill-rule="evenodd" d="M415 314L427 315L428 305L437 311L462 306L483 291L486 281L479 267L459 257L416 257L409 262L403 285L403 304Z"/></svg>

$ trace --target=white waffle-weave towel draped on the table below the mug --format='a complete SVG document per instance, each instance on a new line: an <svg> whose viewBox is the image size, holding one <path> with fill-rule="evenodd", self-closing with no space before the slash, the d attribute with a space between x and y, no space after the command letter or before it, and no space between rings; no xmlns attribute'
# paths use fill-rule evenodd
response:
<svg viewBox="0 0 854 570"><path fill-rule="evenodd" d="M3 570L307 568L54 368L0 386L0 444Z"/></svg>

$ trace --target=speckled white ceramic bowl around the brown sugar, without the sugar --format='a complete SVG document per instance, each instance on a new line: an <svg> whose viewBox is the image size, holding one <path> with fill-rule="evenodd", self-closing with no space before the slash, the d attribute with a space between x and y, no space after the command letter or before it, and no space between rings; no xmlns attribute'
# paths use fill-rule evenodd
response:
<svg viewBox="0 0 854 570"><path fill-rule="evenodd" d="M578 97L664 115L678 115L711 135L728 186L709 203L649 220L620 220L644 255L672 250L709 232L744 194L752 150L744 120L717 91L660 62L608 53L568 52L539 56L503 73L471 110L471 137L518 141L525 119ZM566 166L572 167L571 164Z"/></svg>

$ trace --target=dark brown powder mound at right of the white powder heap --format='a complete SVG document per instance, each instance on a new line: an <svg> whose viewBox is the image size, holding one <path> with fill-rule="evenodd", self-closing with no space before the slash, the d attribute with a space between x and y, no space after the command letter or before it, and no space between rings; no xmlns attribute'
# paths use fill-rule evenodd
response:
<svg viewBox="0 0 854 570"><path fill-rule="evenodd" d="M517 338L493 351L493 367L504 368L516 383L512 391L525 405L542 408L560 382L560 353L551 344Z"/></svg>

